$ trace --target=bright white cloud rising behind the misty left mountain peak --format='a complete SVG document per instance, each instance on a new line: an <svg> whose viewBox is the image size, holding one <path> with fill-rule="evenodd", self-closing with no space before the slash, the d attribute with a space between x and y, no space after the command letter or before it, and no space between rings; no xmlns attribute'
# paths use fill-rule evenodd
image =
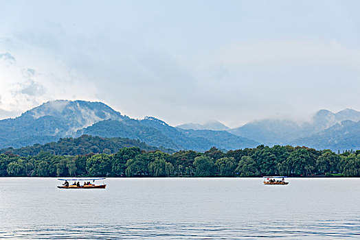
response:
<svg viewBox="0 0 360 240"><path fill-rule="evenodd" d="M13 112L23 112L54 99L97 100L93 82L46 54L16 58L12 64L8 64L9 58L0 58L1 117L13 117Z"/></svg>

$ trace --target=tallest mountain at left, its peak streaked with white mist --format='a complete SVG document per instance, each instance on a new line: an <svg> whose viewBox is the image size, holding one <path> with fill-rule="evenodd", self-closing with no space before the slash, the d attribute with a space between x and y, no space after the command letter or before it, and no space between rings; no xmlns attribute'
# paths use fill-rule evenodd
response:
<svg viewBox="0 0 360 240"><path fill-rule="evenodd" d="M105 119L121 120L120 112L100 102L48 101L15 119L0 121L0 147L48 143Z"/></svg>

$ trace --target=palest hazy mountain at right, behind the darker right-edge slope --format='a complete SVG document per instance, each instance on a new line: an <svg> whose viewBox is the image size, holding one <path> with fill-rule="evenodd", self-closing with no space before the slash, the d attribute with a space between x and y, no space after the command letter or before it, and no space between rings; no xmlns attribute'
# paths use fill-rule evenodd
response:
<svg viewBox="0 0 360 240"><path fill-rule="evenodd" d="M262 119L234 128L229 132L267 145L286 145L293 143L294 139L311 136L344 120L359 121L360 112L351 109L337 113L319 110L310 121Z"/></svg>

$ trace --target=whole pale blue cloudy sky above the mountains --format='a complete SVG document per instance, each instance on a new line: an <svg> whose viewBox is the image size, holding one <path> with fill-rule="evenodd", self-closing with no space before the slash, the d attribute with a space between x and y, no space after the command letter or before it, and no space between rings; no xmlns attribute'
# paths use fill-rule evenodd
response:
<svg viewBox="0 0 360 240"><path fill-rule="evenodd" d="M2 1L0 118L54 99L170 125L360 110L360 1Z"/></svg>

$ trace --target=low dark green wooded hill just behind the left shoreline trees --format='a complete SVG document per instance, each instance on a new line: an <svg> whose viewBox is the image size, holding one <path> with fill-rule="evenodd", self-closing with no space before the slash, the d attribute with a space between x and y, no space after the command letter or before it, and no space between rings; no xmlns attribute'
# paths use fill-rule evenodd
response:
<svg viewBox="0 0 360 240"><path fill-rule="evenodd" d="M0 153L12 152L19 156L36 156L39 152L45 151L50 152L54 155L71 155L76 156L80 154L91 154L91 153L106 153L115 154L122 147L139 147L145 151L161 150L162 152L172 153L172 149L166 149L164 147L152 147L146 143L124 138L100 138L99 136L88 136L83 135L76 139L65 138L60 139L57 142L46 143L44 145L36 144L33 146L21 147L18 149L5 148L1 149Z"/></svg>

